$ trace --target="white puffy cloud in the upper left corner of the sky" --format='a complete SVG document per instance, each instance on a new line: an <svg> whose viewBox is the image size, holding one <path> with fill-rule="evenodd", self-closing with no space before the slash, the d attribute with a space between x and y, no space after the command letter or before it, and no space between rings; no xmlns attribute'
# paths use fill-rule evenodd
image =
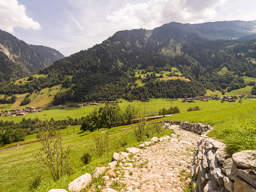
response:
<svg viewBox="0 0 256 192"><path fill-rule="evenodd" d="M0 29L13 32L14 27L41 29L37 21L26 15L26 7L17 0L0 0Z"/></svg>

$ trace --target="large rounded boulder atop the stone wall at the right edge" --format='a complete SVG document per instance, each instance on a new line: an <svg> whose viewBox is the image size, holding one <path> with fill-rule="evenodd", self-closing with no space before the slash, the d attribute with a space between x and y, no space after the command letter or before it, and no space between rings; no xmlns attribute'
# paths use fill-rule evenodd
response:
<svg viewBox="0 0 256 192"><path fill-rule="evenodd" d="M249 160L253 160L256 157L256 151L245 150L232 155L233 163L238 168L250 168Z"/></svg>

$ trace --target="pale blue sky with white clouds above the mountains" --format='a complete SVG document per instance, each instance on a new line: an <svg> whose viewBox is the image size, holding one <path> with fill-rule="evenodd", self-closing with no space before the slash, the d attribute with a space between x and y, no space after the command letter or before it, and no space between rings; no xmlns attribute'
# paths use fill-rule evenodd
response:
<svg viewBox="0 0 256 192"><path fill-rule="evenodd" d="M0 29L69 56L120 30L256 20L255 9L256 0L0 0Z"/></svg>

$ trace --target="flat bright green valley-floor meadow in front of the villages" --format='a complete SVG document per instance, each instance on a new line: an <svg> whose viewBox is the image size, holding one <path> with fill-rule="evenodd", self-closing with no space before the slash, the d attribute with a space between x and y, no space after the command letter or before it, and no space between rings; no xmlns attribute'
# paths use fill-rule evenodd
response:
<svg viewBox="0 0 256 192"><path fill-rule="evenodd" d="M118 99L118 100L120 101L121 99ZM147 115L150 115L150 116L158 115L160 109L169 108L171 106L177 106L178 108L180 108L181 112L185 112L189 107L195 107L195 106L199 106L201 109L209 109L209 108L218 108L222 106L233 106L234 104L238 105L238 101L235 103L230 103L230 102L221 103L220 100L210 100L209 102L195 101L195 103L187 103L187 102L183 103L180 100L173 101L172 99L150 99L149 102L145 102L146 113ZM123 99L122 101L123 103L119 103L119 106L122 111L125 111L128 105L133 105L136 108L143 106L143 102L140 102L140 101L128 102ZM244 99L243 101L244 103L256 102L256 100L253 100L253 99ZM3 119L3 121L13 120L14 122L20 122L23 118L35 119L35 117L37 117L39 119L44 119L45 114L48 119L51 119L52 117L55 120L62 120L62 119L68 119L68 118L79 119L81 116L87 116L89 113L91 113L94 110L94 108L99 108L100 106L102 105L99 105L99 106L88 105L83 108L68 108L64 110L60 110L60 108L58 108L57 106L54 106L52 107L52 109L44 110L38 113L27 113L25 116L14 116L14 117L2 116L0 117L0 120ZM10 105L8 105L7 107L10 107Z"/></svg>

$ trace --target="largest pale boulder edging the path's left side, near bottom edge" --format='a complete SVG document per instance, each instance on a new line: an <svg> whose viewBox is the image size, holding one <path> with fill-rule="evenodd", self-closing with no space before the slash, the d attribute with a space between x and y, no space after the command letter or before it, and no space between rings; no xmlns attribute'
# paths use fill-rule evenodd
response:
<svg viewBox="0 0 256 192"><path fill-rule="evenodd" d="M71 181L68 184L68 190L70 192L79 192L82 189L84 189L86 186L90 185L91 182L92 182L91 175L89 173L86 173L76 178L75 180Z"/></svg>

